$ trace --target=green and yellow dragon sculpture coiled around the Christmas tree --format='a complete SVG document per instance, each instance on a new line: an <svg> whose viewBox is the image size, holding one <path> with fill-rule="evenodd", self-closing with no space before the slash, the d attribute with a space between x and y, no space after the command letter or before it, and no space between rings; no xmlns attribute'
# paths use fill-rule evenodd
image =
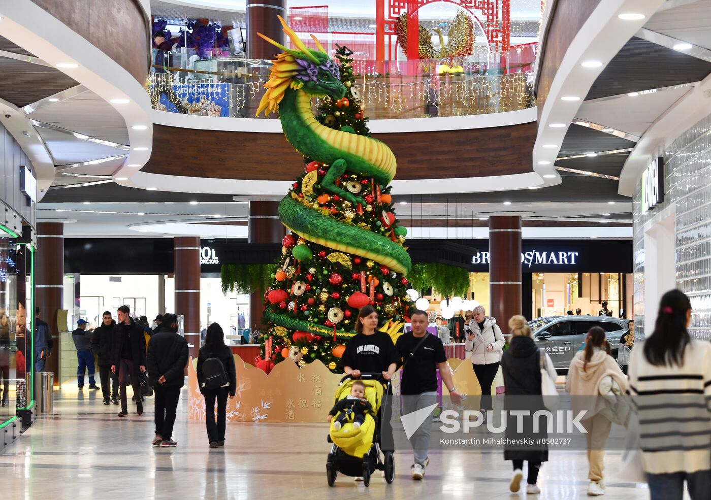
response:
<svg viewBox="0 0 711 500"><path fill-rule="evenodd" d="M347 89L340 80L338 66L328 57L315 36L319 50L311 50L296 36L284 19L279 17L284 33L300 50L291 50L280 43L259 35L284 50L272 64L269 81L257 115L278 111L287 141L304 157L326 165L328 173L321 187L354 205L365 201L336 185L344 172L373 178L380 185L388 185L395 177L395 155L378 139L339 131L321 125L311 112L311 96L343 97ZM410 256L402 245L380 234L346 224L328 217L300 203L291 195L279 204L279 218L288 229L302 238L328 248L363 256L389 266L393 271L407 274Z"/></svg>

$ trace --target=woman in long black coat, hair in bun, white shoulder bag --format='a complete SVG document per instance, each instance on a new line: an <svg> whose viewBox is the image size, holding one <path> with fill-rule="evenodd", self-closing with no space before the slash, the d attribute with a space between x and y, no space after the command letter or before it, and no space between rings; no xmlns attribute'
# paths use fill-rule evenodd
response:
<svg viewBox="0 0 711 500"><path fill-rule="evenodd" d="M545 368L548 376L555 381L555 369L550 361L550 357L538 350L535 340L531 337L531 329L523 316L513 316L508 320L508 327L511 329L511 338L508 349L501 357L501 372L503 374L503 385L506 388L504 398L505 410L509 413L509 420L506 423L506 437L512 440L520 437L517 431L517 418L511 415L514 410L530 411L533 415L535 411L545 410L543 398L540 390L541 370L540 357L545 356ZM518 396L528 396L521 398ZM533 397L532 397L533 396ZM535 400L535 401L533 401ZM533 417L523 419L523 433L527 437L540 438L545 443L547 433L545 427L538 433L533 433ZM503 450L503 460L513 462L513 477L509 484L509 489L516 493L520 489L520 482L523 479L523 462L528 460L528 484L526 494L538 494L540 488L536 484L538 481L538 471L542 462L548 461L548 446L537 444L533 447L522 445L505 445Z"/></svg>

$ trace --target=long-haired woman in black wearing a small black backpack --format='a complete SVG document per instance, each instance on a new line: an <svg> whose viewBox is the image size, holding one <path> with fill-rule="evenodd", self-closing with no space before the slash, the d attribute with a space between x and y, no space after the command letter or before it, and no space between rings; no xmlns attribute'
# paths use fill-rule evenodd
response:
<svg viewBox="0 0 711 500"><path fill-rule="evenodd" d="M205 396L205 422L210 448L225 445L227 399L235 397L237 376L232 350L225 345L222 327L213 323L205 333L205 344L198 355L198 387ZM215 399L218 401L218 420L215 425Z"/></svg>

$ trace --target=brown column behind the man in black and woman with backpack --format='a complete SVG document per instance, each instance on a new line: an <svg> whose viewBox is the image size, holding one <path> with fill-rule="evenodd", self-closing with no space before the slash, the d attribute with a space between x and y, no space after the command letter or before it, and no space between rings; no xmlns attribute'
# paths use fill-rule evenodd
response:
<svg viewBox="0 0 711 500"><path fill-rule="evenodd" d="M200 350L200 238L173 239L177 315L184 317L185 339L193 359ZM173 312L173 311L168 311Z"/></svg>

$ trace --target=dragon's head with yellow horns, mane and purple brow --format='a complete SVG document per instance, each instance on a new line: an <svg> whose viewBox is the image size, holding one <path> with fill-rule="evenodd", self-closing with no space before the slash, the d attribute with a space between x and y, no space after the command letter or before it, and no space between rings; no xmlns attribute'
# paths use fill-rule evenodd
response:
<svg viewBox="0 0 711 500"><path fill-rule="evenodd" d="M279 102L282 101L284 92L289 87L301 89L306 94L316 97L329 95L333 99L341 99L345 96L348 89L341 82L338 65L328 57L328 53L319 40L311 35L311 38L316 42L316 47L319 48L319 50L311 50L296 36L292 28L289 28L282 16L279 16L279 21L284 26L284 33L287 33L299 50L286 48L262 33L257 33L267 42L284 50L272 61L272 73L269 76L269 81L264 84L267 92L264 92L264 96L262 96L257 115L262 111L264 114L277 111Z"/></svg>

